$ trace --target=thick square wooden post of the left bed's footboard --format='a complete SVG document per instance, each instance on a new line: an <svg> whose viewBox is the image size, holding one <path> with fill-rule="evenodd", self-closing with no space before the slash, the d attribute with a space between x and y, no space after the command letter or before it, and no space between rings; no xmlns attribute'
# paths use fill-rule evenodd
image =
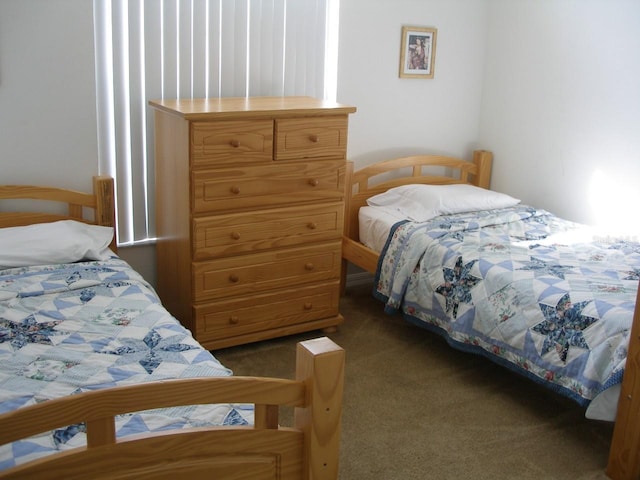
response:
<svg viewBox="0 0 640 480"><path fill-rule="evenodd" d="M306 406L295 409L295 427L304 432L304 477L338 478L345 353L327 337L300 342L296 380L307 387Z"/></svg>

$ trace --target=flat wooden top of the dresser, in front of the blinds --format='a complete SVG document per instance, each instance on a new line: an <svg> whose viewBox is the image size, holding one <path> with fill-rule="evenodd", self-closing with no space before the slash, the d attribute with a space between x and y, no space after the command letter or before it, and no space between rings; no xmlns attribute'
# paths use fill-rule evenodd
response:
<svg viewBox="0 0 640 480"><path fill-rule="evenodd" d="M149 105L188 120L243 116L346 115L355 107L313 97L228 97L151 100Z"/></svg>

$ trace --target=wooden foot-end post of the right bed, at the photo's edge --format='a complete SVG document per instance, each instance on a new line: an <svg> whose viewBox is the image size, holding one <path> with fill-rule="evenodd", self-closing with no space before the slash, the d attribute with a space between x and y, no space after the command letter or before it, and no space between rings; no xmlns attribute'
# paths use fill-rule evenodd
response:
<svg viewBox="0 0 640 480"><path fill-rule="evenodd" d="M614 480L640 478L640 288L629 336L627 363L609 450L607 475Z"/></svg>

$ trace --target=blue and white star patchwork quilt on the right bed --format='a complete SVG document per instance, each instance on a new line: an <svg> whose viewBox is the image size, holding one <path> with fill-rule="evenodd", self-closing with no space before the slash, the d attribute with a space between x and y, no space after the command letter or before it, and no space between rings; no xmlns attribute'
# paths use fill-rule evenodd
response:
<svg viewBox="0 0 640 480"><path fill-rule="evenodd" d="M586 406L622 380L640 244L520 205L400 222L374 295Z"/></svg>

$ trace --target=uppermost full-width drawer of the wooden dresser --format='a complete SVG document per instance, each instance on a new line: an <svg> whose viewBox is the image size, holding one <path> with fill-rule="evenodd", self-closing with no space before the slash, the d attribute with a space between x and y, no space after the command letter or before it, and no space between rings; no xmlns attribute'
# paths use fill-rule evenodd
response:
<svg viewBox="0 0 640 480"><path fill-rule="evenodd" d="M193 211L230 210L340 201L344 195L344 160L198 170L193 173Z"/></svg>

